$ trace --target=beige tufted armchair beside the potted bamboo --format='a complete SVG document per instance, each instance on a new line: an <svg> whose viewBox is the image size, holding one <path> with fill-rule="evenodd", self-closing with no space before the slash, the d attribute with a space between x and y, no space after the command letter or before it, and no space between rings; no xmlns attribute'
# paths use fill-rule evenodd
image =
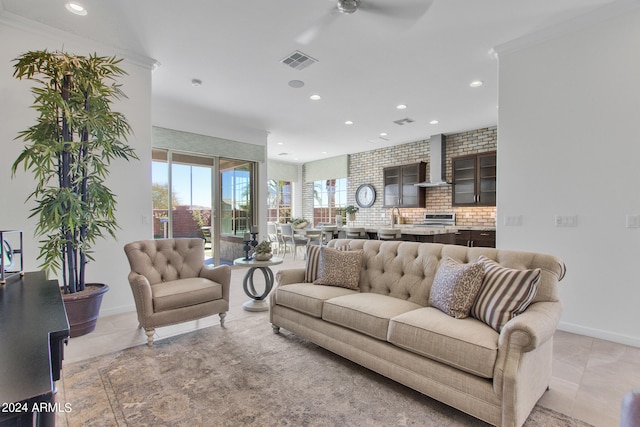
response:
<svg viewBox="0 0 640 427"><path fill-rule="evenodd" d="M155 328L229 310L229 266L204 265L202 239L141 240L125 245L138 322L153 346Z"/></svg>

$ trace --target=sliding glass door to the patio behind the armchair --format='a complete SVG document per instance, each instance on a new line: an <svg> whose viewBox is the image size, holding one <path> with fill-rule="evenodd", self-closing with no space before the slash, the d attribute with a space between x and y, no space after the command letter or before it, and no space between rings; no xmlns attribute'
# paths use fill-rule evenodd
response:
<svg viewBox="0 0 640 427"><path fill-rule="evenodd" d="M203 238L207 263L231 261L221 240L233 244L254 224L255 168L250 161L153 150L154 238Z"/></svg>

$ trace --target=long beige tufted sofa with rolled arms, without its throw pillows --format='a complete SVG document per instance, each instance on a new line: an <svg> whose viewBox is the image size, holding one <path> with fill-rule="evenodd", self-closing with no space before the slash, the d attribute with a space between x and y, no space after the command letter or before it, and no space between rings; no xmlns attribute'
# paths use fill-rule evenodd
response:
<svg viewBox="0 0 640 427"><path fill-rule="evenodd" d="M270 295L275 333L287 329L490 424L525 422L551 377L560 259L436 243L341 239L327 247L363 251L359 289L305 283L304 268L279 271ZM540 269L533 301L500 332L429 304L442 260L473 263L480 256Z"/></svg>

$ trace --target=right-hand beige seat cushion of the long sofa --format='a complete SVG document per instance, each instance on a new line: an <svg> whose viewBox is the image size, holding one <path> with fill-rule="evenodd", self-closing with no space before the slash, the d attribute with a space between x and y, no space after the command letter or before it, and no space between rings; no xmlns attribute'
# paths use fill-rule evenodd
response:
<svg viewBox="0 0 640 427"><path fill-rule="evenodd" d="M499 334L472 317L455 319L433 307L393 317L388 341L446 365L493 377Z"/></svg>

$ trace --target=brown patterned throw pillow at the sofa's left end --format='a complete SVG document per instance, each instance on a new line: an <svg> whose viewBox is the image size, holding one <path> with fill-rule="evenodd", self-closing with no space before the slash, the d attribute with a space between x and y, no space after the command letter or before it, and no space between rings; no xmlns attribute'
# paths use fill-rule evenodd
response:
<svg viewBox="0 0 640 427"><path fill-rule="evenodd" d="M358 289L360 269L362 267L362 251L340 251L320 248L317 285L340 286Z"/></svg>

